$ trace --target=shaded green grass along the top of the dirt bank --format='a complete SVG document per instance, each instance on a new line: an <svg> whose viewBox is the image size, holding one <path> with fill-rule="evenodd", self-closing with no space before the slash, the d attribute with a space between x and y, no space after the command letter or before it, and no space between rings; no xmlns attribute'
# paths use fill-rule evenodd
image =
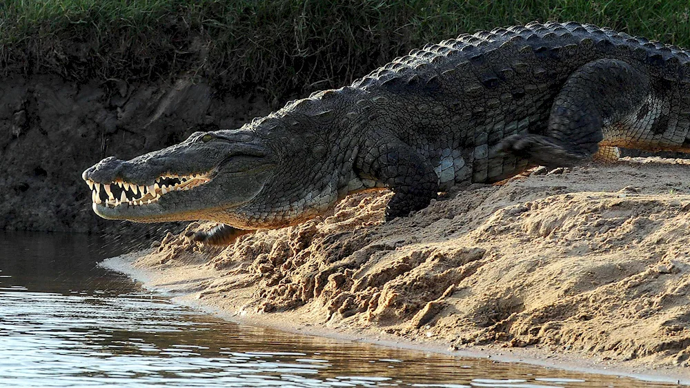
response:
<svg viewBox="0 0 690 388"><path fill-rule="evenodd" d="M202 76L273 96L350 83L408 50L533 20L575 20L690 46L677 0L4 0L3 74L75 81Z"/></svg>

